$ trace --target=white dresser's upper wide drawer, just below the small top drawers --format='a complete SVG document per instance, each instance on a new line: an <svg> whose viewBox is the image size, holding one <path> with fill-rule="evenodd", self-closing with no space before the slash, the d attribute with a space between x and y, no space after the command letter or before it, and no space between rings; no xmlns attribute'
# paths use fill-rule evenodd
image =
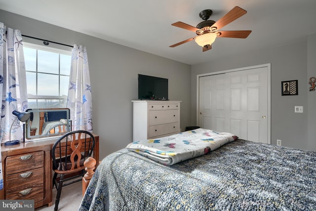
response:
<svg viewBox="0 0 316 211"><path fill-rule="evenodd" d="M148 112L148 124L158 125L164 123L173 123L179 121L179 110L158 110Z"/></svg>

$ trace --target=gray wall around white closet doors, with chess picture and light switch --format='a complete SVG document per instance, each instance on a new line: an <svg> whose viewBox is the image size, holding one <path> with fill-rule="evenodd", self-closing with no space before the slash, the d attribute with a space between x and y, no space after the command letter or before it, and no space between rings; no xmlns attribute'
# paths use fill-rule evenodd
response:
<svg viewBox="0 0 316 211"><path fill-rule="evenodd" d="M313 45L312 45L313 44ZM309 46L309 47L308 47ZM308 59L309 58L309 59ZM287 45L238 54L193 65L191 69L192 125L196 124L197 75L271 63L271 143L316 150L316 91L308 91L308 80L316 76L316 36ZM298 80L298 95L281 96L281 81ZM294 113L294 106L304 113Z"/></svg>

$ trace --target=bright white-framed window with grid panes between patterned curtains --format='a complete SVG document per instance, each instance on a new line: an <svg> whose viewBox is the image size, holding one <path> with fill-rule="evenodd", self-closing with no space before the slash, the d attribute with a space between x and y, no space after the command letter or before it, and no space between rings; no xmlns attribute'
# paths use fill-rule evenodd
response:
<svg viewBox="0 0 316 211"><path fill-rule="evenodd" d="M67 106L71 51L25 43L29 108Z"/></svg>

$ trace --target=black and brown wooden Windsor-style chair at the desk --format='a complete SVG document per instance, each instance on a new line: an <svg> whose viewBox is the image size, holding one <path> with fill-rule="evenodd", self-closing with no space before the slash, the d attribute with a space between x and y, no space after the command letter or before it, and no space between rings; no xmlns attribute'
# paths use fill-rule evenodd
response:
<svg viewBox="0 0 316 211"><path fill-rule="evenodd" d="M91 157L94 144L94 136L90 132L76 130L64 134L53 145L53 186L57 189L55 211L58 210L62 187L82 180L85 174L83 163Z"/></svg>

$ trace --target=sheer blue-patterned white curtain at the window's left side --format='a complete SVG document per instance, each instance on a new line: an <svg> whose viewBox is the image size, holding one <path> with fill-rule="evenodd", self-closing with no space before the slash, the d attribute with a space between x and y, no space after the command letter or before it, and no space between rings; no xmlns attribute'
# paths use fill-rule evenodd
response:
<svg viewBox="0 0 316 211"><path fill-rule="evenodd" d="M9 141L10 127L16 118L12 111L26 111L28 99L21 32L6 28L1 22L0 93L2 96L0 140L1 143L4 143ZM11 129L11 140L21 140L22 138L22 124L17 120ZM0 189L3 188L1 167L2 165L0 165Z"/></svg>

